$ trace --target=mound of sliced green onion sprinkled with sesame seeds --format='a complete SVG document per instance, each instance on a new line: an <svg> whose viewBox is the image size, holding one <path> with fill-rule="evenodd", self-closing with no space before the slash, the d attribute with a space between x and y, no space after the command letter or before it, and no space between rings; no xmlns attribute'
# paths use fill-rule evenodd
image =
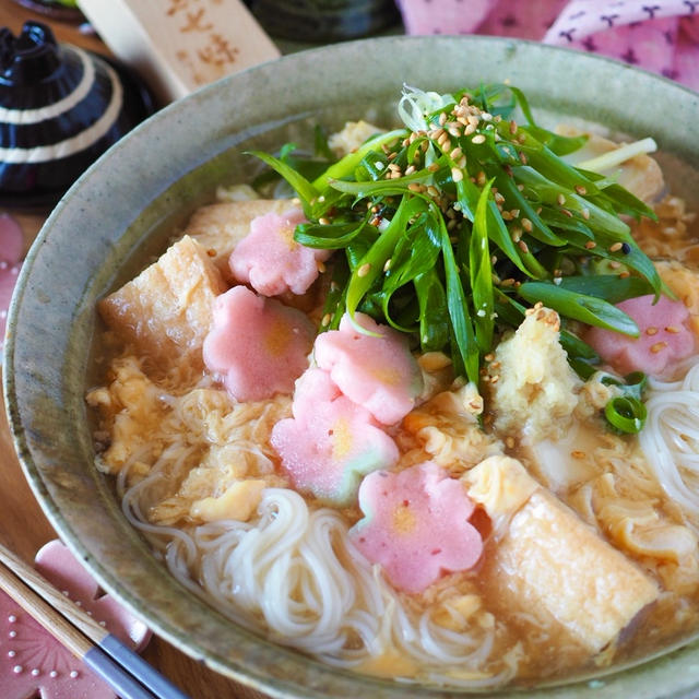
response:
<svg viewBox="0 0 699 699"><path fill-rule="evenodd" d="M503 84L452 94L405 87L399 115L405 128L372 137L312 178L292 146L277 158L253 153L301 200L308 223L296 240L337 251L321 329L345 312L369 313L422 351L449 354L473 382L494 339L538 301L561 317L561 342L583 378L599 357L574 335L577 322L638 334L615 305L665 288L620 215L654 213L593 171L597 163L562 159L585 137L538 126L522 92ZM328 157L316 151L315 167ZM609 412L616 422L641 419L632 402Z"/></svg>

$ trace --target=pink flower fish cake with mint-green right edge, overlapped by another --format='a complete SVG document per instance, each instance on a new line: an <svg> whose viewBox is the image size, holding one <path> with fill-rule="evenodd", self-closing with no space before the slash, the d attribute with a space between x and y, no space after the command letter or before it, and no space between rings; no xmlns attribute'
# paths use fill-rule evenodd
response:
<svg viewBox="0 0 699 699"><path fill-rule="evenodd" d="M393 439L321 369L296 382L293 412L274 426L272 446L295 487L324 502L352 505L364 474L398 460Z"/></svg>

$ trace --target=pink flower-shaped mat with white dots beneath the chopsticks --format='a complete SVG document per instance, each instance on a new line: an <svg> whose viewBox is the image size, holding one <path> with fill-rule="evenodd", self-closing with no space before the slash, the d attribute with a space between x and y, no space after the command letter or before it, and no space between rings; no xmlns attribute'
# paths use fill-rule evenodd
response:
<svg viewBox="0 0 699 699"><path fill-rule="evenodd" d="M58 590L80 603L106 629L133 650L145 647L151 632L108 595L58 541L36 556L36 569ZM0 592L0 687L2 699L115 699L114 690Z"/></svg>

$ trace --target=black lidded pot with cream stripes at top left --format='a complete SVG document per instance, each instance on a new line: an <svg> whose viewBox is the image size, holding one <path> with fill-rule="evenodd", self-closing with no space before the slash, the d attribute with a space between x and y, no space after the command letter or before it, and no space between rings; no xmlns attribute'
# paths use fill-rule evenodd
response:
<svg viewBox="0 0 699 699"><path fill-rule="evenodd" d="M153 114L123 66L58 44L26 22L0 28L0 205L50 206L110 145Z"/></svg>

